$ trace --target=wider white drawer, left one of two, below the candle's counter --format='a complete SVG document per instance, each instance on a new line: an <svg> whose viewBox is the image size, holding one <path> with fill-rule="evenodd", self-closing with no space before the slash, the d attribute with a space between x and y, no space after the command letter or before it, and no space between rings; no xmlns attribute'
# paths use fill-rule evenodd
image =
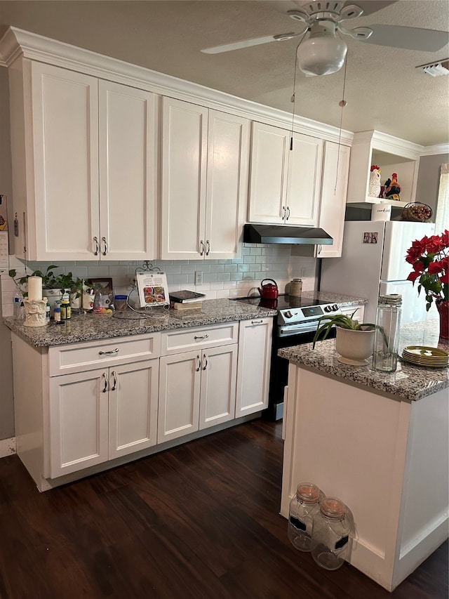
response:
<svg viewBox="0 0 449 599"><path fill-rule="evenodd" d="M114 364L140 362L161 355L161 334L83 341L48 349L48 374L58 376Z"/></svg>

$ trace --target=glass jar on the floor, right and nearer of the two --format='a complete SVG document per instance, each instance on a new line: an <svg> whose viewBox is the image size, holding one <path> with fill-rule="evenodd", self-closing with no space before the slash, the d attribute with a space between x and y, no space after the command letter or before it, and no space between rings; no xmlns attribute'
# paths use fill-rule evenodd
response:
<svg viewBox="0 0 449 599"><path fill-rule="evenodd" d="M354 526L351 511L336 497L325 497L314 516L311 555L325 570L337 570L349 558Z"/></svg>

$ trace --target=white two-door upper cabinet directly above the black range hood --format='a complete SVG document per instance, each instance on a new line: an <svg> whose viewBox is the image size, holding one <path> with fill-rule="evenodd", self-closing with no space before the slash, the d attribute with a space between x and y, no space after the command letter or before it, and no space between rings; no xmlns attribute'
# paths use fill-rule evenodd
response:
<svg viewBox="0 0 449 599"><path fill-rule="evenodd" d="M319 218L323 141L253 123L248 220L314 226Z"/></svg>

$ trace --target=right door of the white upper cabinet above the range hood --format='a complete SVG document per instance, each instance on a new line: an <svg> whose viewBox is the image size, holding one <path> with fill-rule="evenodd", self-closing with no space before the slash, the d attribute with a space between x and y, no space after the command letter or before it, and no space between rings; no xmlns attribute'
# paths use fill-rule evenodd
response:
<svg viewBox="0 0 449 599"><path fill-rule="evenodd" d="M288 151L288 225L317 225L322 161L322 140L299 133L293 134L293 149Z"/></svg>

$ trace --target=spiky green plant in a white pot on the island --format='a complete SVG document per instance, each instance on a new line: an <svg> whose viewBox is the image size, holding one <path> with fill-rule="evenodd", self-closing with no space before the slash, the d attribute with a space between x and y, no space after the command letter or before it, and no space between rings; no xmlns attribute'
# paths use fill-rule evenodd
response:
<svg viewBox="0 0 449 599"><path fill-rule="evenodd" d="M330 329L335 326L335 349L339 353L338 361L342 364L353 366L364 366L368 364L366 358L373 355L374 334L376 325L366 322L358 322L354 317L355 311L349 316L347 314L335 314L321 316L313 341L321 337L326 339Z"/></svg>

